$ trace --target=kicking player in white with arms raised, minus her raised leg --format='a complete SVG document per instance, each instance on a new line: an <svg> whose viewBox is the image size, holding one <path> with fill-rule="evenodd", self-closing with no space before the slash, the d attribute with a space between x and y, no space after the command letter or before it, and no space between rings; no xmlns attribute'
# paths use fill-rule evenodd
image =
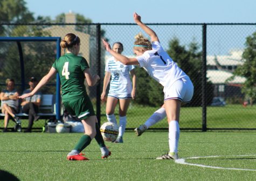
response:
<svg viewBox="0 0 256 181"><path fill-rule="evenodd" d="M169 123L169 152L156 159L178 159L179 112L182 102L189 102L193 96L193 84L188 75L163 50L156 33L141 22L134 13L134 21L150 37L151 42L141 33L135 37L133 51L136 58L128 58L111 50L103 40L106 50L124 65L140 65L148 74L164 86L164 107Z"/></svg>

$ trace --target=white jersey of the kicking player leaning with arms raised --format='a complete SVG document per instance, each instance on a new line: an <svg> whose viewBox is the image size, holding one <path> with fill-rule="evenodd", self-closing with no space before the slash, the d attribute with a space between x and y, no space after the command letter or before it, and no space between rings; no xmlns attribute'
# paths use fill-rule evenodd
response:
<svg viewBox="0 0 256 181"><path fill-rule="evenodd" d="M174 62L167 52L163 50L160 42L153 41L152 49L136 57L141 67L161 85L171 85L176 80L188 76Z"/></svg>

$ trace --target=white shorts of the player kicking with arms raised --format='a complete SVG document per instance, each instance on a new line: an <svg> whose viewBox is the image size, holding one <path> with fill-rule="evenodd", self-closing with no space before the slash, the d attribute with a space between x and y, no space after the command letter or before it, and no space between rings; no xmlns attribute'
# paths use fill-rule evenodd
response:
<svg viewBox="0 0 256 181"><path fill-rule="evenodd" d="M193 96L193 83L188 76L176 80L172 85L166 85L163 89L164 101L178 99L182 102L190 102Z"/></svg>

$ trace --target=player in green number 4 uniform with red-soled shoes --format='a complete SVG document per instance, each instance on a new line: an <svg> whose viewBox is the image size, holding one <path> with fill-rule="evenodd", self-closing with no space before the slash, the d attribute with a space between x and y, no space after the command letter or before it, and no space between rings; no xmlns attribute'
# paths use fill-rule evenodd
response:
<svg viewBox="0 0 256 181"><path fill-rule="evenodd" d="M61 41L60 46L67 48L67 52L58 58L52 65L48 74L40 80L38 85L31 93L19 96L26 98L33 96L41 87L43 87L57 72L60 75L62 101L68 113L75 115L81 120L85 128L85 134L82 135L75 148L68 153L68 160L87 160L82 156L84 150L95 137L101 149L101 157L107 158L111 152L106 148L98 126L98 120L95 116L92 102L86 93L84 80L88 86L94 86L100 80L99 75L92 75L88 62L84 57L78 56L80 50L80 38L73 33L68 33Z"/></svg>

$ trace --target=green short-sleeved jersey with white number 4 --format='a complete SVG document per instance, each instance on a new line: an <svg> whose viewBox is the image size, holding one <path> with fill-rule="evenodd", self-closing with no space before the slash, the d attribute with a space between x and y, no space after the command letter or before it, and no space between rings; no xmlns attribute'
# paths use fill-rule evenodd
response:
<svg viewBox="0 0 256 181"><path fill-rule="evenodd" d="M87 96L84 70L89 68L89 65L84 57L66 53L57 59L52 67L60 76L63 102Z"/></svg>

